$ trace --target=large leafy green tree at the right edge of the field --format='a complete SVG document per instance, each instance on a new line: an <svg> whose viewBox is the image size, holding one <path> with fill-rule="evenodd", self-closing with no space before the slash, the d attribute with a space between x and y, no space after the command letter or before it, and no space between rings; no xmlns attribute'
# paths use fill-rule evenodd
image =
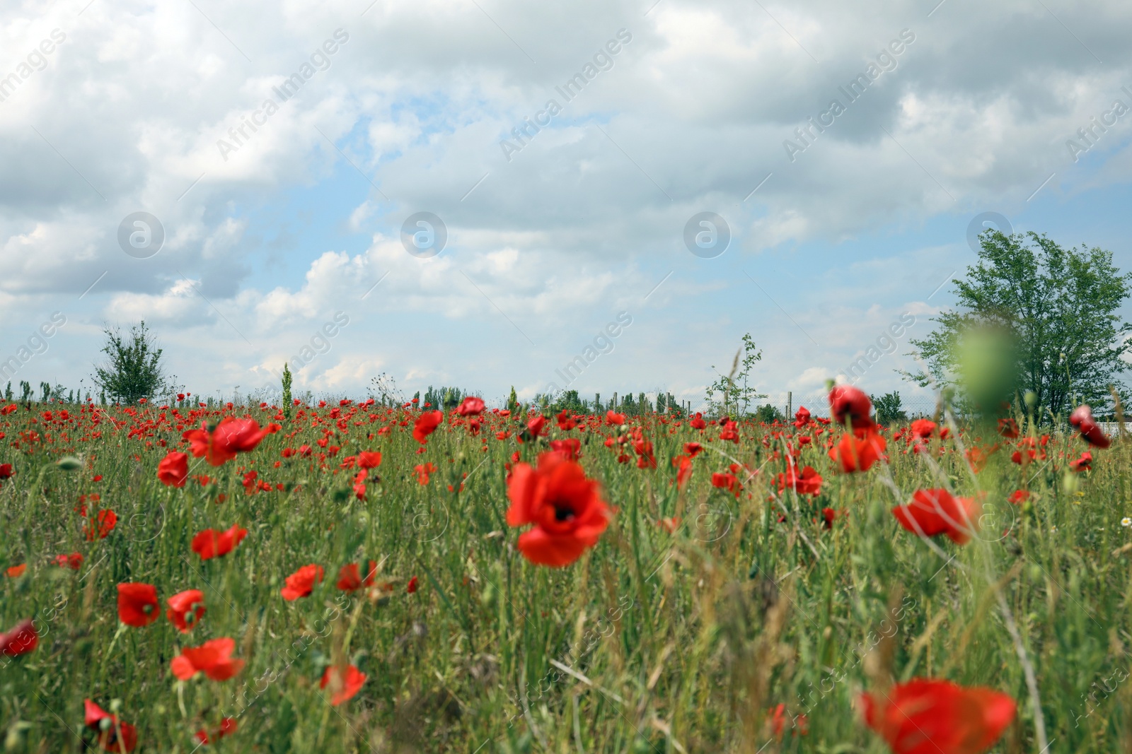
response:
<svg viewBox="0 0 1132 754"><path fill-rule="evenodd" d="M955 281L958 307L938 329L912 340L944 384L962 382L963 337L977 328L1005 332L1014 349L1013 392L1034 392L1038 416L1064 415L1078 401L1104 413L1108 385L1129 370L1132 324L1117 313L1132 294L1113 254L1099 248L1064 249L1037 233L979 236L977 263ZM904 376L928 384L924 372ZM1123 398L1122 398L1123 399Z"/></svg>

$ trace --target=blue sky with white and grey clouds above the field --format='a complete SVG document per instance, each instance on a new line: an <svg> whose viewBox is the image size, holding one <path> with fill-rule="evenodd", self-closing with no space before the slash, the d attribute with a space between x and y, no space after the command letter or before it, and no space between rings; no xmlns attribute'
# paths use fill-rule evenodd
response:
<svg viewBox="0 0 1132 754"><path fill-rule="evenodd" d="M1130 36L1117 0L12 0L0 359L87 384L145 319L198 395L581 357L698 404L751 332L797 405L903 318L859 384L911 399L987 213L1132 269Z"/></svg>

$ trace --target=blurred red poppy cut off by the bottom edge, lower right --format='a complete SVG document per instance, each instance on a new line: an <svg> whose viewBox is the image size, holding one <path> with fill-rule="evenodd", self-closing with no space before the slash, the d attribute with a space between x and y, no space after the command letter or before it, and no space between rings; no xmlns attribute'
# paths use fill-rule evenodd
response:
<svg viewBox="0 0 1132 754"><path fill-rule="evenodd" d="M1018 711L1013 699L992 688L927 678L861 694L860 701L865 723L894 754L980 754Z"/></svg>

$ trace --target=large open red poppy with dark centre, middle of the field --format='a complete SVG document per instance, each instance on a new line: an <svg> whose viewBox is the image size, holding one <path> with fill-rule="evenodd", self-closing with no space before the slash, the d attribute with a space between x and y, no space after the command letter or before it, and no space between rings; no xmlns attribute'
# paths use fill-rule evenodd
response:
<svg viewBox="0 0 1132 754"><path fill-rule="evenodd" d="M560 453L539 456L538 468L516 463L507 483L507 525L534 528L518 537L518 549L539 565L569 565L598 543L609 526L601 485Z"/></svg>

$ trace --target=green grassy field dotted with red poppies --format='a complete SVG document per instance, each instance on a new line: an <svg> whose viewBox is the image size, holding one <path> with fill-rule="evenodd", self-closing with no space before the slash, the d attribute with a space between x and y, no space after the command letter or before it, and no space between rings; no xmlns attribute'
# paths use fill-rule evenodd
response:
<svg viewBox="0 0 1132 754"><path fill-rule="evenodd" d="M5 751L1132 751L1087 409L286 408L0 405Z"/></svg>

